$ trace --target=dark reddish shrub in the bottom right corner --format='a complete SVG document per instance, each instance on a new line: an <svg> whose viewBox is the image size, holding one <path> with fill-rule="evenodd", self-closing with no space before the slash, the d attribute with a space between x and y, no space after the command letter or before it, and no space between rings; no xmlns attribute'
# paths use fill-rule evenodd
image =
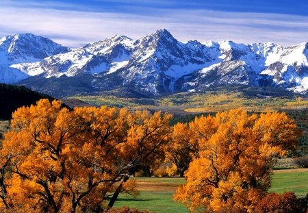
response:
<svg viewBox="0 0 308 213"><path fill-rule="evenodd" d="M256 213L306 213L308 208L308 194L304 198L297 198L294 192L269 193L255 208Z"/></svg>

